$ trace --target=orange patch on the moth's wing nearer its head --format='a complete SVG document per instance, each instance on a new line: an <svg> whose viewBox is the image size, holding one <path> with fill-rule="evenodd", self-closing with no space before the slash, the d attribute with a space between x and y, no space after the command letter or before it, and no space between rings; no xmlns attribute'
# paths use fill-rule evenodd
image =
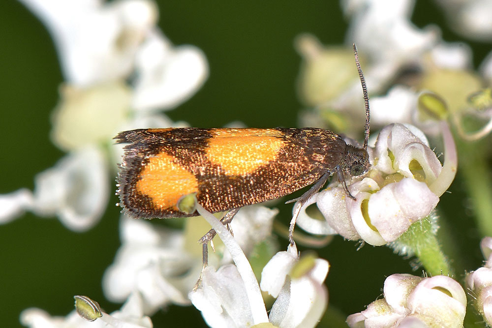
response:
<svg viewBox="0 0 492 328"><path fill-rule="evenodd" d="M229 176L245 176L275 161L284 141L274 129L214 129L207 157Z"/></svg>

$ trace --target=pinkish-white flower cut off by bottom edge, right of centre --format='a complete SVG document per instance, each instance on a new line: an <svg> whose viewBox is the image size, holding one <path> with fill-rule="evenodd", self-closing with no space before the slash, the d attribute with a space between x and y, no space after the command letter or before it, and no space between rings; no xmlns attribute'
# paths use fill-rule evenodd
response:
<svg viewBox="0 0 492 328"><path fill-rule="evenodd" d="M463 325L466 295L447 276L420 278L392 274L384 281L384 299L347 318L350 327L456 327Z"/></svg>

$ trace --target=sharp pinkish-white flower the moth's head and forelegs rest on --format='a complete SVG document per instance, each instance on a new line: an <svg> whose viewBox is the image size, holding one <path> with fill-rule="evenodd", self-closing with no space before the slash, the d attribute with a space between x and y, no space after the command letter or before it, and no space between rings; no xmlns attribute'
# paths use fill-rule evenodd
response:
<svg viewBox="0 0 492 328"><path fill-rule="evenodd" d="M456 149L447 125L445 165L429 148L425 135L415 127L388 125L369 149L373 165L369 177L354 182L349 190L356 201L345 197L341 186L314 195L299 215L298 224L315 234L340 234L363 239L371 245L394 241L415 221L429 215L439 196L456 174ZM307 206L316 203L326 222L307 216Z"/></svg>

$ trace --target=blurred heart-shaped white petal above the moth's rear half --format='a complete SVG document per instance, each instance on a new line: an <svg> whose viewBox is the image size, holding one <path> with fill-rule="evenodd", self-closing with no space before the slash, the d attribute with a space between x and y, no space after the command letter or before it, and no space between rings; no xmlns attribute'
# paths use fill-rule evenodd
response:
<svg viewBox="0 0 492 328"><path fill-rule="evenodd" d="M171 109L191 97L208 77L203 52L191 45L172 48L154 31L137 54L133 107Z"/></svg>

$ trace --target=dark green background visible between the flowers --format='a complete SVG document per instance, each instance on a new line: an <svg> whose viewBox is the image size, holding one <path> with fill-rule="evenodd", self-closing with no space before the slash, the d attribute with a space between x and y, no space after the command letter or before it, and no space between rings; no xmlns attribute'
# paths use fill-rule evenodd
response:
<svg viewBox="0 0 492 328"><path fill-rule="evenodd" d="M338 1L181 0L158 4L159 26L166 36L177 45L196 45L209 61L205 86L166 113L197 127L220 127L233 120L253 127L297 126L301 105L294 86L300 57L293 48L294 37L311 32L323 43L340 44L347 27ZM444 28L446 40L461 40L445 29L442 14L430 1L418 1L412 19L420 27L437 23ZM2 2L0 30L0 193L6 193L20 187L32 189L35 174L63 156L49 139L50 115L63 78L49 34L22 4ZM479 63L490 46L472 46ZM455 182L453 196L442 198L445 211L464 213L460 190L460 182ZM31 214L0 226L0 326L18 326L19 313L31 306L64 316L73 309L73 295L77 294L98 300L107 312L120 307L105 300L101 291L103 272L120 246L116 201L111 199L105 216L87 233L71 232L57 219ZM279 219L287 222L290 209L284 208ZM473 249L469 269L473 269L480 265L479 239L473 228L465 229L461 233L472 237L468 241L473 242L469 246ZM280 241L286 246L285 240ZM377 298L386 276L411 272L408 260L386 247L366 246L360 251L356 247L337 237L318 250L331 264L327 277L330 306L345 314L361 311ZM193 307L171 306L153 321L155 327L204 325Z"/></svg>

